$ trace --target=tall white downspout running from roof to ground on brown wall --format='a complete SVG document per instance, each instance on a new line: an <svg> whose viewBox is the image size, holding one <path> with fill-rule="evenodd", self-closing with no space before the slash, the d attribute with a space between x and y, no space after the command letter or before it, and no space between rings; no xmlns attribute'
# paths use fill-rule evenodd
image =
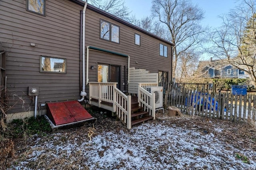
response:
<svg viewBox="0 0 256 170"><path fill-rule="evenodd" d="M78 100L78 102L82 102L84 101L84 97L87 95L86 92L85 92L85 64L84 64L84 60L85 60L85 10L86 10L86 7L87 7L87 0L86 2L84 3L84 9L83 9L83 31L82 31L82 48L83 48L83 51L82 51L82 58L83 58L83 88L82 88L82 91L80 93L80 96L82 96L82 98L80 100Z"/></svg>

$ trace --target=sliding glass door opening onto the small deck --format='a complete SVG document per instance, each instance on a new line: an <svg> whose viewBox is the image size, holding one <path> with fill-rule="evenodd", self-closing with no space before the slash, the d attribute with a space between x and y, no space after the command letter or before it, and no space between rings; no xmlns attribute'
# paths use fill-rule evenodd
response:
<svg viewBox="0 0 256 170"><path fill-rule="evenodd" d="M116 87L120 89L121 67L110 64L98 64L98 82L117 82Z"/></svg>

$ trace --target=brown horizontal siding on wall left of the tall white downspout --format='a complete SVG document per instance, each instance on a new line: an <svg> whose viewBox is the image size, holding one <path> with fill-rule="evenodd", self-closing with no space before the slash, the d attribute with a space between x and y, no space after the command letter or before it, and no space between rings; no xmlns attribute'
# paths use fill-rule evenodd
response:
<svg viewBox="0 0 256 170"><path fill-rule="evenodd" d="M69 0L46 0L46 16L26 11L26 0L1 0L0 37L6 50L10 113L34 110L28 86L40 103L80 98L80 10ZM35 43L31 47L30 43ZM40 55L67 59L66 74L42 73Z"/></svg>

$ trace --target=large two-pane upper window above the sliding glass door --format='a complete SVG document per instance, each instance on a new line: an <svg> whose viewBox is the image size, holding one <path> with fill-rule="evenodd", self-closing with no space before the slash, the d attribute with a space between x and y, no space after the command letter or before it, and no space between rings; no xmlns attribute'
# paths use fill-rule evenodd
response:
<svg viewBox="0 0 256 170"><path fill-rule="evenodd" d="M119 27L104 21L100 20L100 38L115 43L119 43ZM111 35L111 36L110 36Z"/></svg>

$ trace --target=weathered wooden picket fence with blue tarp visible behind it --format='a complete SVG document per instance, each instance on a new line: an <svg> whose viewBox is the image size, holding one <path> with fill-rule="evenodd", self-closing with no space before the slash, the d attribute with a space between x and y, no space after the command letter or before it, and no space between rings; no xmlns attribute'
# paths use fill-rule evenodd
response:
<svg viewBox="0 0 256 170"><path fill-rule="evenodd" d="M256 95L233 95L230 92L213 92L206 84L198 90L186 84L166 85L167 106L175 106L184 114L229 120L234 122L256 120Z"/></svg>

